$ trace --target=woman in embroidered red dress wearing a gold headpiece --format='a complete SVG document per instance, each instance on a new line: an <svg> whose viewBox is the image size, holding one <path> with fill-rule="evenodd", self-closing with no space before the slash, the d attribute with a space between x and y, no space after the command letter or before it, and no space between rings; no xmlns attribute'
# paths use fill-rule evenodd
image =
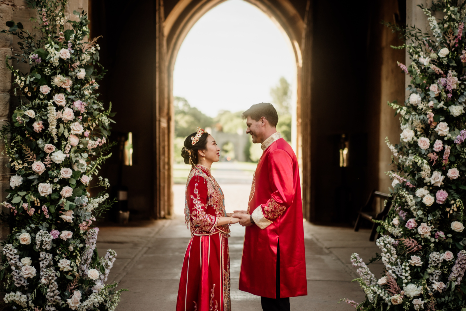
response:
<svg viewBox="0 0 466 311"><path fill-rule="evenodd" d="M198 127L185 139L181 155L192 169L186 182L185 221L191 229L178 288L176 311L230 311L228 225L222 189L210 173L220 148Z"/></svg>

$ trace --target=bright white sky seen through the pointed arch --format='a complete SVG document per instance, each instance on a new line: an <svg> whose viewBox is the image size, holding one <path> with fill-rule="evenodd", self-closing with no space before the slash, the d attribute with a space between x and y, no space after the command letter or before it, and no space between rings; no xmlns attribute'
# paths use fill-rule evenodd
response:
<svg viewBox="0 0 466 311"><path fill-rule="evenodd" d="M270 88L281 76L295 92L295 72L286 34L259 8L228 0L202 16L183 41L173 95L215 117L220 110L244 111L271 102Z"/></svg>

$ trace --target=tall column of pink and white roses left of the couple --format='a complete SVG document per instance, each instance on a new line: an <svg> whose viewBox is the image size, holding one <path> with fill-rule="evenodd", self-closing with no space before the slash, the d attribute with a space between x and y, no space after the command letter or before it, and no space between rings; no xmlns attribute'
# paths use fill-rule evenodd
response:
<svg viewBox="0 0 466 311"><path fill-rule="evenodd" d="M0 287L14 309L114 310L122 290L105 285L117 254L99 258L98 228L91 224L113 202L89 189L109 186L99 177L110 157L110 117L97 100L99 46L89 41L87 14L65 16L65 0L27 1L39 18L29 32L7 22L19 39L18 62L9 65L18 98L12 121L0 131L12 171L3 215L12 233L2 243ZM110 105L111 106L111 105Z"/></svg>

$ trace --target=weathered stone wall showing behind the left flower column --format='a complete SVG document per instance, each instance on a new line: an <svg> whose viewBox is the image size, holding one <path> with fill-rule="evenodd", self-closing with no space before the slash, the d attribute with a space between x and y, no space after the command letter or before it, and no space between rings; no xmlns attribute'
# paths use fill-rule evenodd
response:
<svg viewBox="0 0 466 311"><path fill-rule="evenodd" d="M88 10L87 0L69 0L66 7L66 16L69 17L73 11ZM21 22L23 26L32 31L32 24L29 22L31 17L36 16L36 11L28 9L26 2L23 0L5 0L0 2L0 29L7 29L5 23L7 21ZM71 16L71 19L74 19ZM12 94L12 75L7 69L5 64L5 57L7 55L19 54L20 49L17 42L11 35L0 34L0 126L6 123L12 111L11 107L14 106L14 95ZM29 68L26 64L17 64L16 62L9 61L10 64L16 69L20 69L26 73ZM7 157L3 154L3 142L0 142L0 201L5 200L5 189L9 187L10 170L5 166L7 164ZM3 208L3 207L2 207ZM3 208L4 209L4 208ZM7 210L3 210L7 212ZM9 234L9 228L4 224L0 227L0 241L3 241Z"/></svg>

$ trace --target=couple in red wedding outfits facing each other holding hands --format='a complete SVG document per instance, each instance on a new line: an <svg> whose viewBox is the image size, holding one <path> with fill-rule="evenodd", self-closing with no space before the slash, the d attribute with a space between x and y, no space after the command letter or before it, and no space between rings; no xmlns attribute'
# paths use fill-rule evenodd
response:
<svg viewBox="0 0 466 311"><path fill-rule="evenodd" d="M289 297L307 295L301 183L296 155L276 131L272 104L242 114L253 143L261 144L247 210L228 214L210 168L219 161L215 139L198 128L181 151L191 173L185 221L191 230L176 311L230 311L229 226L246 227L240 290L260 296L264 311L290 310Z"/></svg>

